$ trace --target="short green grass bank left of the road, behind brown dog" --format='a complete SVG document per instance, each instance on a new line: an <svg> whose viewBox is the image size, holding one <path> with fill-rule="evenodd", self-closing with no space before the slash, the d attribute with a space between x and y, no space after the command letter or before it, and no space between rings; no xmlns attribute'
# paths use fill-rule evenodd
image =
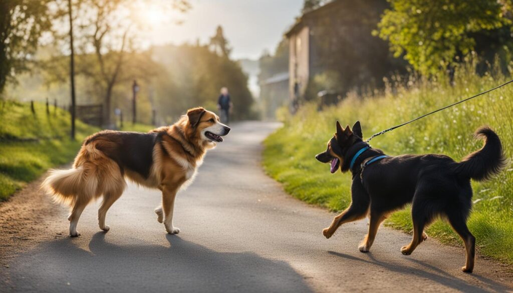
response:
<svg viewBox="0 0 513 293"><path fill-rule="evenodd" d="M76 121L76 140L69 139L70 115L60 108L34 103L0 102L0 201L47 169L73 160L87 135L100 129ZM146 132L152 126L129 124L123 130Z"/></svg>

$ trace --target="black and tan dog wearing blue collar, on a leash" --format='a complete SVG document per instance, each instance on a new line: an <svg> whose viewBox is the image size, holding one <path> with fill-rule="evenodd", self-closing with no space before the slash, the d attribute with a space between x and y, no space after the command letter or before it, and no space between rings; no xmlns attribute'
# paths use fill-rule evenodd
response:
<svg viewBox="0 0 513 293"><path fill-rule="evenodd" d="M463 239L467 257L462 270L472 272L476 239L466 224L472 206L470 179L486 180L497 174L506 162L501 141L494 131L481 127L476 136L484 138L483 148L459 163L442 154L388 157L362 141L360 122L352 130L349 125L342 129L337 122L337 133L328 142L328 149L315 158L322 163L330 162L331 173L339 168L342 172L351 171L352 202L323 230L324 236L330 238L340 225L369 214L369 232L359 247L367 252L387 214L412 203L413 239L401 252L404 255L413 252L427 239L424 228L442 217Z"/></svg>

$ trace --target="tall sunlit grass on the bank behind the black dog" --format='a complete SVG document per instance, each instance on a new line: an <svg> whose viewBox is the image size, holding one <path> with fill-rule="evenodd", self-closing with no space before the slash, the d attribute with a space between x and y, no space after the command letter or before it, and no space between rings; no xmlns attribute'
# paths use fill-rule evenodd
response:
<svg viewBox="0 0 513 293"><path fill-rule="evenodd" d="M333 211L343 210L350 203L351 175L330 174L327 164L314 159L315 154L326 149L335 132L335 122L352 125L360 120L364 136L368 137L506 81L499 74L481 77L468 72L472 71L457 73L454 86L446 81L412 81L407 88L389 88L377 97L348 97L322 112L313 104L305 105L297 114L287 117L284 127L264 142L264 168L294 197ZM459 161L481 147L482 142L473 139L473 132L485 124L497 131L506 156L511 158L513 86L387 132L373 139L371 145L390 155L444 153ZM472 186L475 204L468 226L477 238L479 252L513 264L513 167L509 163L497 178L485 183L472 182ZM330 222L326 219L326 226ZM386 225L410 232L410 207L393 213ZM436 221L427 233L443 243L463 245L445 221Z"/></svg>

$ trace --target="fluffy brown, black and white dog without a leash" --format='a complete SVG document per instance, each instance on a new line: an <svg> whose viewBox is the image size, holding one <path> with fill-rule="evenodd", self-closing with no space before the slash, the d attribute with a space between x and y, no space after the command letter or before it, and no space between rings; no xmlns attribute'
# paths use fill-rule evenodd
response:
<svg viewBox="0 0 513 293"><path fill-rule="evenodd" d="M173 226L176 192L187 187L208 149L222 142L230 128L203 108L187 111L171 126L148 133L105 130L89 136L69 170L51 170L42 187L55 201L69 205L69 235L76 230L84 208L103 196L98 209L100 229L109 230L105 216L125 190L125 178L162 191L162 206L155 209L157 220L168 233L180 232Z"/></svg>

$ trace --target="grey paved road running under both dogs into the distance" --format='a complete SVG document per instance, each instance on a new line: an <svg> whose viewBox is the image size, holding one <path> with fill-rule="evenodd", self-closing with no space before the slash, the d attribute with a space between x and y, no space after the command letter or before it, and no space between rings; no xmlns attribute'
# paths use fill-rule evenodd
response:
<svg viewBox="0 0 513 293"><path fill-rule="evenodd" d="M0 207L0 291L513 290L511 275L496 263L478 259L475 274L461 272L462 248L428 240L403 256L410 236L385 227L371 252L361 253L366 220L324 239L333 214L292 199L262 171L260 142L275 127L235 125L207 154L196 181L177 198L179 235L167 235L156 221L159 192L129 185L107 214L109 232L98 230L96 207L89 206L78 224L82 236L68 238L67 211L34 191L37 183L28 186Z"/></svg>

